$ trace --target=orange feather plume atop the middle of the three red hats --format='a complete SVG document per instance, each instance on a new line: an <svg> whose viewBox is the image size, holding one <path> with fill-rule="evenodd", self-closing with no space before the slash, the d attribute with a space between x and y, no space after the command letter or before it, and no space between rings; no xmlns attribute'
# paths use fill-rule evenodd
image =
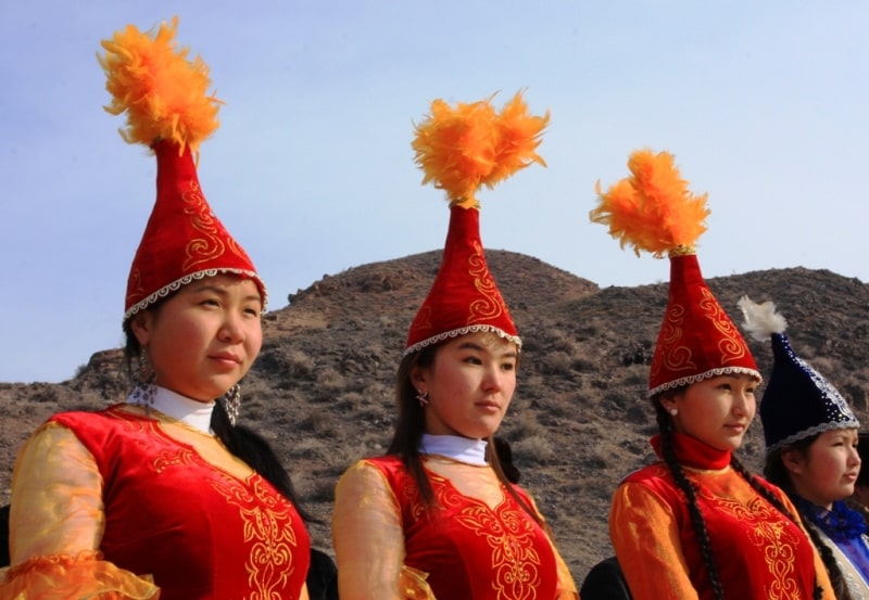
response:
<svg viewBox="0 0 869 600"><path fill-rule="evenodd" d="M415 127L412 148L425 174L423 183L433 182L452 203L476 201L481 186L493 188L533 163L545 166L537 149L549 112L529 115L521 92L501 113L491 100L455 107L434 100L431 114Z"/></svg>

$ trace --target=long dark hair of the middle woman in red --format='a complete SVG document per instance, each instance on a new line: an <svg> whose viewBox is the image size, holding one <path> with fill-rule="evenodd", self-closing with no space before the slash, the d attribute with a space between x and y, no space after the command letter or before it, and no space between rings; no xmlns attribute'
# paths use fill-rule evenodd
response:
<svg viewBox="0 0 869 600"><path fill-rule="evenodd" d="M433 508L436 505L434 493L431 489L431 482L426 475L426 470L419 456L419 442L423 439L423 433L425 432L426 414L419 404L419 399L416 397L417 391L411 380L411 375L414 368L430 368L434 363L434 357L440 347L441 344L426 346L419 352L405 356L399 365L399 370L395 374L398 419L392 434L392 442L390 442L387 449L387 455L401 457L404 468L407 469L407 472L416 483L416 489L419 492L423 502L429 508ZM499 481L519 506L551 536L552 532L546 522L528 502L516 494L513 484L504 473L504 468L499 459L494 435L490 435L487 442L486 460L492 467Z"/></svg>

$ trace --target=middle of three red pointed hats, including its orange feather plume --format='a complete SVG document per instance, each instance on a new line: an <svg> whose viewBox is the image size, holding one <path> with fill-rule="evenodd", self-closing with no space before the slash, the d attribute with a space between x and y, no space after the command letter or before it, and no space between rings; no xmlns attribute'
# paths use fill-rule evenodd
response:
<svg viewBox="0 0 869 600"><path fill-rule="evenodd" d="M521 93L499 113L491 98L450 106L431 103L431 114L416 126L415 159L423 183L446 192L450 225L443 258L431 290L411 324L404 355L450 337L489 331L521 346L507 305L489 272L480 239L481 186L493 188L533 163L545 116L528 114Z"/></svg>

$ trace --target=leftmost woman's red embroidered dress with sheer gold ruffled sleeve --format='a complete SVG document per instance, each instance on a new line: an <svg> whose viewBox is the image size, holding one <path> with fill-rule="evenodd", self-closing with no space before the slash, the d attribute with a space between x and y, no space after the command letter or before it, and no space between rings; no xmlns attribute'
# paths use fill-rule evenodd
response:
<svg viewBox="0 0 869 600"><path fill-rule="evenodd" d="M48 437L50 463L50 447L64 452L63 447L80 444L83 460L71 461L64 452L66 467L83 471L79 483L90 477L100 485L68 488L76 481L71 474L68 481L46 486L41 498L29 494L27 510L47 516L46 528L53 527L53 535L40 540L12 532L10 587L0 587L0 598L15 587L33 592L34 582L60 589L119 590L112 598L150 598L152 591L139 588L142 578L151 577L161 600L307 598L310 539L292 505L257 473L239 477L206 461L192 445L167 435L165 418L158 416L121 406L67 412L34 435L23 455L40 452L40 441ZM229 457L225 460L241 464L223 452ZM68 498L52 498L52 488ZM50 515L58 512L52 523ZM109 583L93 575L100 571Z"/></svg>

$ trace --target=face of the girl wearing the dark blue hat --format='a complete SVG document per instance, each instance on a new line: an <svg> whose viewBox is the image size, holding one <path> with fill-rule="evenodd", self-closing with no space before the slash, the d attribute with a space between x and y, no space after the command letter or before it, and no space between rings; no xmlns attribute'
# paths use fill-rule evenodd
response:
<svg viewBox="0 0 869 600"><path fill-rule="evenodd" d="M823 432L807 448L785 449L782 460L794 490L819 507L829 509L836 500L854 494L860 472L857 430Z"/></svg>

